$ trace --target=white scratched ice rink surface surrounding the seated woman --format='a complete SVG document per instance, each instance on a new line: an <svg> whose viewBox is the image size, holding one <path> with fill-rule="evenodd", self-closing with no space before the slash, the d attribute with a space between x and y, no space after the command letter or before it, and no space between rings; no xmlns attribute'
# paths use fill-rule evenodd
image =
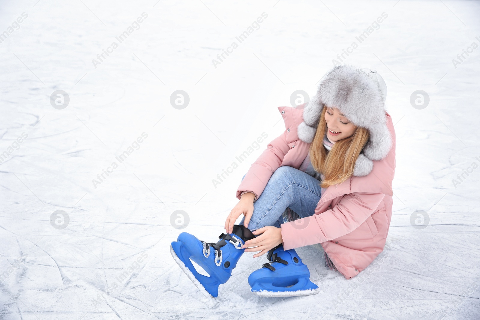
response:
<svg viewBox="0 0 480 320"><path fill-rule="evenodd" d="M28 18L0 44L0 153L22 132L28 138L0 165L0 272L8 273L0 318L480 318L480 169L452 184L480 157L480 48L452 64L478 43L478 1L106 2L1 3L0 32L22 12ZM91 60L142 12L141 28L95 69ZM260 29L215 68L211 60L262 12ZM276 108L295 90L313 95L332 59L382 12L388 18L346 62L380 72L396 123L384 252L346 280L324 267L319 246L300 248L321 292L292 298L253 295L247 277L266 260L246 253L219 297L207 299L180 272L170 242L182 231L207 241L223 232L241 177L284 130ZM49 104L58 89L70 95L63 110ZM178 89L191 99L183 110L169 104ZM419 89L431 99L422 110L409 103ZM141 148L94 188L142 132ZM214 188L262 132L268 141ZM63 230L50 225L55 210L70 215ZM190 217L183 230L170 224L175 210ZM410 224L416 210L430 216L422 230Z"/></svg>

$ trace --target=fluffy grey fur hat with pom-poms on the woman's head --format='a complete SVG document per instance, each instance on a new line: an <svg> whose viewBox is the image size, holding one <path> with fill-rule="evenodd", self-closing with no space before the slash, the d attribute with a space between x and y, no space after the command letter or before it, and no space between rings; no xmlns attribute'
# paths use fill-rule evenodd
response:
<svg viewBox="0 0 480 320"><path fill-rule="evenodd" d="M386 125L385 99L387 86L377 71L338 65L324 76L316 95L303 110L303 122L297 132L300 140L311 143L315 137L323 107L336 107L354 125L366 128L370 139L359 155L354 176L366 176L373 168L372 160L381 160L392 146Z"/></svg>

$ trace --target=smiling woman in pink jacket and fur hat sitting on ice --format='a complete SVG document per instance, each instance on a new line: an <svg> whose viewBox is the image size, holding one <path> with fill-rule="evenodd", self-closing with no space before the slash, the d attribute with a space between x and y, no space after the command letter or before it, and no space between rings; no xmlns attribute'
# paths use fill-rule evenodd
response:
<svg viewBox="0 0 480 320"><path fill-rule="evenodd" d="M327 265L346 279L383 251L396 141L385 98L376 71L339 65L324 76L310 103L278 108L286 130L242 179L240 201L225 222L228 234L205 243L182 233L172 243L175 260L202 292L216 296L244 251L260 251L253 257L268 252L271 262L249 277L252 291L284 296L318 289L294 248L320 243ZM294 221L283 223L286 211ZM187 258L210 277L196 273Z"/></svg>

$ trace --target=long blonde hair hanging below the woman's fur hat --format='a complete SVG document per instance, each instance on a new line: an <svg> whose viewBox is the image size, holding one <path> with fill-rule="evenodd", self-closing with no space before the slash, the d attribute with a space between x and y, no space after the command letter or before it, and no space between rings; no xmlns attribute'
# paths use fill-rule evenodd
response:
<svg viewBox="0 0 480 320"><path fill-rule="evenodd" d="M357 127L351 136L335 142L332 150L327 153L324 147L324 136L328 129L325 110L326 106L323 107L315 137L310 145L312 166L315 171L324 174L324 179L320 184L322 188L342 183L352 176L355 161L370 138L367 129Z"/></svg>

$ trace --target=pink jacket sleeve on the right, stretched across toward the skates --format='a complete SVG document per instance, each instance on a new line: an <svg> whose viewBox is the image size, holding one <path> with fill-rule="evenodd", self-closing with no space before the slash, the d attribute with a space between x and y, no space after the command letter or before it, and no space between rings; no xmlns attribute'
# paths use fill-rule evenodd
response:
<svg viewBox="0 0 480 320"><path fill-rule="evenodd" d="M349 193L324 213L282 224L284 249L309 246L349 234L375 212L384 196L383 193Z"/></svg>

